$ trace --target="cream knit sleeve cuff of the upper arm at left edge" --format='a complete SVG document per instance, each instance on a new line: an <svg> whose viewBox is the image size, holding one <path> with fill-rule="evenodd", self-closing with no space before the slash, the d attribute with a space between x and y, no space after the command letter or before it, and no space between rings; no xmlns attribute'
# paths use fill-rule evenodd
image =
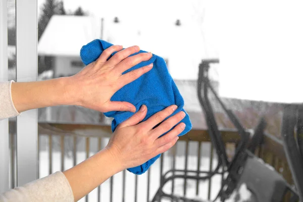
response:
<svg viewBox="0 0 303 202"><path fill-rule="evenodd" d="M0 120L20 115L12 99L12 82L0 82Z"/></svg>

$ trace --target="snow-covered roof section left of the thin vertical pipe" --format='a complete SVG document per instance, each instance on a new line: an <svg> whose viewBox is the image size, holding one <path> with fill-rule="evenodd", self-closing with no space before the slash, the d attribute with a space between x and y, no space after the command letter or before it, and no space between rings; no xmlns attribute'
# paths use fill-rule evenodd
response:
<svg viewBox="0 0 303 202"><path fill-rule="evenodd" d="M79 56L84 44L100 38L99 21L89 16L53 16L39 40L38 54Z"/></svg>

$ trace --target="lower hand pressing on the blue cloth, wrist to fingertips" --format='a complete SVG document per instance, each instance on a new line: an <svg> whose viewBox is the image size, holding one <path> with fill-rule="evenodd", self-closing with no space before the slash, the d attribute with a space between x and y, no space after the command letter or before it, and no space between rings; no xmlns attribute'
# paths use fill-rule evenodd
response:
<svg viewBox="0 0 303 202"><path fill-rule="evenodd" d="M179 123L185 117L185 113L179 112L165 120L176 109L177 106L170 106L139 123L147 113L147 108L143 105L136 114L116 128L106 149L110 151L117 165L121 165L119 170L139 166L164 153L177 142L178 135L185 128L184 123ZM165 121L161 123L163 120ZM161 124L153 129L159 123ZM177 123L179 124L175 126ZM170 129L172 130L169 131ZM167 131L169 131L167 134L159 138Z"/></svg>

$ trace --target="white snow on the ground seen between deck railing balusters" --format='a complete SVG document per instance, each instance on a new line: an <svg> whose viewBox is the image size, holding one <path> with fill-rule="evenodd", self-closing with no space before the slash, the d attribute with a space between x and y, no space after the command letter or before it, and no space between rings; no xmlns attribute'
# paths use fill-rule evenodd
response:
<svg viewBox="0 0 303 202"><path fill-rule="evenodd" d="M93 153L90 153L92 156ZM70 157L72 155L69 155ZM77 153L77 164L85 160L85 153L79 152ZM167 172L172 168L172 158L167 154L164 155L163 159L163 172ZM69 169L73 165L73 159L65 156L65 169ZM188 170L196 170L197 168L197 158L190 156L188 157ZM210 166L210 159L207 157L201 158L200 170L208 171ZM217 166L217 160L213 160L213 169ZM61 153L53 152L53 173L59 171L61 168ZM184 169L185 168L185 158L176 157L176 169ZM49 162L48 162L48 151L40 151L39 156L39 176L45 177L48 175ZM122 199L122 172L116 174L113 177L113 201L121 201ZM138 177L138 189L137 189L137 201L146 201L147 198L147 172L137 176ZM149 191L149 200L151 200L157 189L160 185L160 160L156 161L154 165L150 167L150 191ZM183 185L184 179L175 179L175 194L182 195L183 194ZM195 180L187 180L187 197L190 198L200 198L207 199L208 197L208 186L209 180L199 182L199 194L196 196L196 181ZM125 189L125 201L133 202L135 196L135 175L126 171L126 189ZM219 188L221 187L221 175L216 175L212 177L211 180L211 199L214 199L217 196ZM172 183L168 182L164 186L164 191L166 193L171 193ZM100 195L101 201L110 201L110 179L104 182L100 186ZM88 200L90 202L97 201L97 189L94 189L88 195ZM85 201L85 198L82 198L80 201ZM163 199L162 201L169 201Z"/></svg>

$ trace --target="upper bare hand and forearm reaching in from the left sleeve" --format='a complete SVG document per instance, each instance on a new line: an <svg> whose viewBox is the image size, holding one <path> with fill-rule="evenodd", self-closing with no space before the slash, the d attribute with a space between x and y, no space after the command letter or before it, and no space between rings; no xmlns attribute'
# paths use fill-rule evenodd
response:
<svg viewBox="0 0 303 202"><path fill-rule="evenodd" d="M78 105L100 112L131 111L135 107L126 102L111 102L111 97L124 85L139 78L153 67L142 67L127 74L122 73L142 61L151 58L150 53L141 53L138 46L122 50L122 46L107 48L93 63L78 74L46 81L12 83L12 98L16 110L27 110L58 105ZM114 52L110 60L107 59Z"/></svg>

